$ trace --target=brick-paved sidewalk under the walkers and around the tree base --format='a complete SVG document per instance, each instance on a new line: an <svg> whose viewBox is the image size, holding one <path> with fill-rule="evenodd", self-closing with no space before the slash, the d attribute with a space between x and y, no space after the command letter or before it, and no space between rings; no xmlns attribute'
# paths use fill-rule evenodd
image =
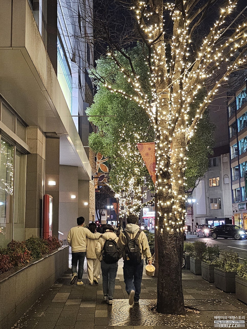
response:
<svg viewBox="0 0 247 329"><path fill-rule="evenodd" d="M119 261L113 305L102 300L102 279L90 286L84 264L84 285L70 285L69 269L50 287L14 325L15 329L192 329L213 328L214 316L245 316L247 306L235 294L225 293L182 270L184 303L199 311L187 309L185 316L161 315L152 311L157 298L157 279L148 277L145 266L139 305L129 306ZM247 322L246 322L247 327ZM6 328L8 329L8 328Z"/></svg>

